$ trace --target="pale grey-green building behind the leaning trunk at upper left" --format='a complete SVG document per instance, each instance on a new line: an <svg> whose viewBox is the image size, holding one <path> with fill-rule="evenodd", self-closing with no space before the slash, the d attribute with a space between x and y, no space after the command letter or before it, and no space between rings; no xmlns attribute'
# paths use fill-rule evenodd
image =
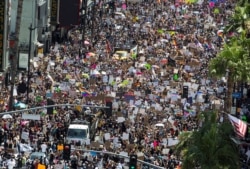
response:
<svg viewBox="0 0 250 169"><path fill-rule="evenodd" d="M12 40L12 36L15 36L16 29L16 17L17 17L17 5L18 0L10 1L10 29L9 40ZM18 65L19 68L26 69L28 65L29 54L29 39L31 30L31 58L36 57L38 53L43 54L44 50L48 48L49 34L49 9L50 0L24 0L23 10L21 16L20 34L19 34L19 52L18 52Z"/></svg>

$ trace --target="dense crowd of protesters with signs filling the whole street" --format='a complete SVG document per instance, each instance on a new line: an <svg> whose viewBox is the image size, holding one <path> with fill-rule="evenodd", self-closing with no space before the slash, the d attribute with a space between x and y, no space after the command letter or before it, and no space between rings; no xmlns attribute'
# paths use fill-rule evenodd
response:
<svg viewBox="0 0 250 169"><path fill-rule="evenodd" d="M208 77L207 66L231 36L224 35L223 28L234 5L232 0L145 0L119 1L108 7L100 1L95 19L91 14L87 18L85 39L81 28L75 27L57 39L48 54L33 59L29 102L24 107L27 75L20 73L15 108L112 102L111 114L101 110L97 135L103 141L91 141L83 149L137 154L155 166L181 167L173 151L178 135L199 127L199 112L223 108L225 79ZM7 90L2 88L3 112L8 111ZM9 169L25 167L29 151L20 148L25 144L48 157L48 162L33 160L30 168L39 168L39 163L48 168L72 167L72 161L79 168L126 168L126 158L83 150L72 151L69 163L62 160L56 145L65 138L68 123L84 118L85 111L79 106L32 111L40 120L5 114L0 142L5 150L1 152L6 153L0 161Z"/></svg>

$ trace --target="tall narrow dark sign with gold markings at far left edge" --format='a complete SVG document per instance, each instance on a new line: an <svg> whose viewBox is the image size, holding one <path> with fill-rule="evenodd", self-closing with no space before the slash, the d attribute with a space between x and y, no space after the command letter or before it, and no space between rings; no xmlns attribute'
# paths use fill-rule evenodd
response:
<svg viewBox="0 0 250 169"><path fill-rule="evenodd" d="M0 1L0 69L3 68L4 57L4 13L5 13L5 0Z"/></svg>

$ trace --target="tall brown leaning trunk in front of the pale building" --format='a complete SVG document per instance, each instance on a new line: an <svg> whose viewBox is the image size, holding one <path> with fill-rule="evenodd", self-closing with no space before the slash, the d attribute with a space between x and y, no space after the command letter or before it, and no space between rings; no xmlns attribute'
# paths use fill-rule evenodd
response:
<svg viewBox="0 0 250 169"><path fill-rule="evenodd" d="M15 77L17 73L17 58L18 58L18 50L19 50L19 33L21 26L21 18L23 12L23 0L18 0L17 4L17 15L16 15L16 30L15 30L15 43L13 48L10 49L10 65L11 65L11 81L10 81L10 98L9 98L9 110L13 109L13 93L15 86Z"/></svg>

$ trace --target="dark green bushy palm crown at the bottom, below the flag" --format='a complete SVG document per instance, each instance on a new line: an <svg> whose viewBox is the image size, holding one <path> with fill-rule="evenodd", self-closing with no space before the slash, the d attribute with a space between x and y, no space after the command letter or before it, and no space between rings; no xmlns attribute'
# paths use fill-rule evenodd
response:
<svg viewBox="0 0 250 169"><path fill-rule="evenodd" d="M183 169L236 169L239 167L239 151L231 140L232 125L218 123L216 112L204 113L202 127L180 135L176 153L183 160Z"/></svg>

